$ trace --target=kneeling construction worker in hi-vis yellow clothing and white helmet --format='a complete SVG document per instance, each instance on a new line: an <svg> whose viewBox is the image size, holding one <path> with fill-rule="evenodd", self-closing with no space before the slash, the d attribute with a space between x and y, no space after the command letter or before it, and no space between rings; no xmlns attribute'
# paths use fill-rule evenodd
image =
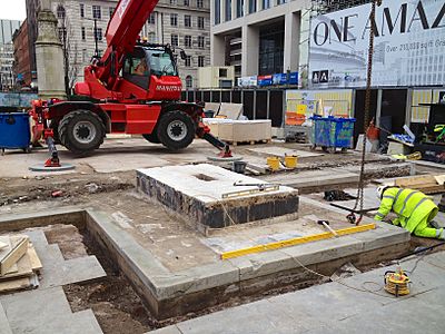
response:
<svg viewBox="0 0 445 334"><path fill-rule="evenodd" d="M380 186L377 188L380 207L375 220L383 220L390 212L397 215L392 223L427 238L445 239L443 226L434 222L438 208L425 194L398 187Z"/></svg>

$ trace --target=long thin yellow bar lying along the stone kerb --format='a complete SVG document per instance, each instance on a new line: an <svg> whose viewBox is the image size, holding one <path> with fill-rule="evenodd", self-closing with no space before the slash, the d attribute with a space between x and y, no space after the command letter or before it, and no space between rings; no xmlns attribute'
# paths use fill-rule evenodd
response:
<svg viewBox="0 0 445 334"><path fill-rule="evenodd" d="M365 230L375 229L375 228L376 228L375 224L367 224L367 225L359 225L359 226L337 229L336 233L337 233L337 235L340 236L340 235L355 234L355 233L365 232ZM248 254L261 253L261 252L278 249L278 248L283 248L283 247L307 244L307 243L312 243L312 242L329 239L333 237L334 237L334 235L330 232L314 234L314 235L308 235L308 236L303 236L303 237L296 237L296 238L291 238L291 239L287 239L287 240L283 240L283 242L269 243L269 244L265 244L265 245L258 245L258 246L225 252L225 253L221 253L221 259L228 259L228 258L239 257L239 256L244 256L244 255L248 255Z"/></svg>

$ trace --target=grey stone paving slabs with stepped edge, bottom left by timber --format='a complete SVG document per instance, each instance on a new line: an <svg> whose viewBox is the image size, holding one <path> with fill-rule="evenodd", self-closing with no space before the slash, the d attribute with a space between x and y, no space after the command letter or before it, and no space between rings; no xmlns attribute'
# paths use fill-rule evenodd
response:
<svg viewBox="0 0 445 334"><path fill-rule="evenodd" d="M43 265L34 291L0 296L1 334L102 333L91 310L72 313L62 285L106 276L96 256L66 261L58 245L49 245L42 230L27 234Z"/></svg>

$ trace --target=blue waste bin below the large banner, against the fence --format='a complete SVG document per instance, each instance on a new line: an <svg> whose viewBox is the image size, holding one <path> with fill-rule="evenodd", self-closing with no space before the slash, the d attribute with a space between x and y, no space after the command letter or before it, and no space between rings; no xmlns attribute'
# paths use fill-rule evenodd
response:
<svg viewBox="0 0 445 334"><path fill-rule="evenodd" d="M352 148L355 118L312 117L314 120L313 141L316 146Z"/></svg>

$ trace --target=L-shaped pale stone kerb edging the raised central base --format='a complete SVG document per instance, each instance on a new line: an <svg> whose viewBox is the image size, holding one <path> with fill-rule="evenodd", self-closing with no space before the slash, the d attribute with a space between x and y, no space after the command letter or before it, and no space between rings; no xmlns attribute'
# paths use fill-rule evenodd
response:
<svg viewBox="0 0 445 334"><path fill-rule="evenodd" d="M320 209L329 208L320 205ZM76 214L72 208L67 212ZM61 208L52 212L49 222L56 219L55 215L63 216L67 212ZM16 222L21 227L36 226L36 222L48 224L44 215L32 213L20 218L3 215L0 220L4 224ZM379 224L375 230L230 261L215 258L210 263L198 263L174 272L149 246L136 238L131 229L122 227L110 215L92 208L79 208L76 215L80 218L78 227L86 228L108 252L159 320L197 312L243 295L259 295L288 285L304 286L319 278L303 268L301 264L330 275L347 262L366 265L394 258L407 252L411 239L406 230Z"/></svg>

